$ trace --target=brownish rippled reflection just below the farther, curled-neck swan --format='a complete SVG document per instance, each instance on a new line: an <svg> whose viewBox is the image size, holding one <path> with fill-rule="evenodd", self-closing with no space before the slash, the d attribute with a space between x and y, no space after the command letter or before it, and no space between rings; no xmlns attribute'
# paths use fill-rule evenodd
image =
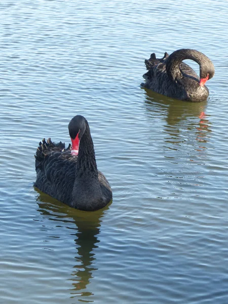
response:
<svg viewBox="0 0 228 304"><path fill-rule="evenodd" d="M208 142L211 132L211 123L205 113L207 101L201 103L180 101L148 89L144 90L149 118L166 122L163 125L163 131L169 135L165 137L169 148L177 150L180 144L191 140L195 150L207 149L205 144Z"/></svg>

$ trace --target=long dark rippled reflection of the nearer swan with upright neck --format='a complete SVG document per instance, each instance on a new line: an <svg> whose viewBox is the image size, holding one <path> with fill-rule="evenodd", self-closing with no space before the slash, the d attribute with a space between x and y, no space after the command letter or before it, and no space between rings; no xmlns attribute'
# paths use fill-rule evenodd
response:
<svg viewBox="0 0 228 304"><path fill-rule="evenodd" d="M71 297L93 295L92 292L87 290L87 285L97 270L94 267L94 261L96 260L94 249L98 247L100 242L97 236L100 233L101 218L104 216L105 211L109 209L108 206L110 204L94 212L80 211L68 207L40 192L37 188L35 190L39 193L36 198L39 205L37 211L42 216L48 217L49 220L56 221L56 226L64 225L67 229L71 229L72 234L70 235L75 235L75 248L78 250L78 254L75 256L75 261L77 262L69 279L73 285L73 288L70 289ZM75 227L72 227L72 223L75 224ZM74 230L76 231L75 233ZM83 301L87 302L85 298Z"/></svg>

